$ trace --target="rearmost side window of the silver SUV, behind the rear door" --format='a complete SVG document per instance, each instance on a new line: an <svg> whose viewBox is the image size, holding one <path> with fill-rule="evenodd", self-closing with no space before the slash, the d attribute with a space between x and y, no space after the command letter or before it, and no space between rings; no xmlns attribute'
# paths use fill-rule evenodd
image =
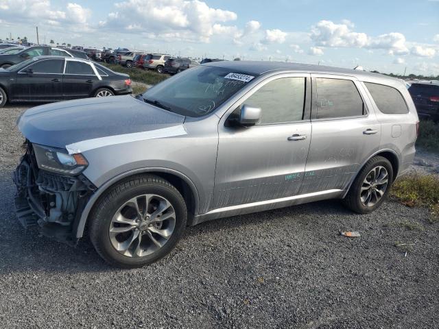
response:
<svg viewBox="0 0 439 329"><path fill-rule="evenodd" d="M404 114L409 112L403 95L395 88L370 82L364 82L364 84L368 88L370 95L372 95L375 104L377 104L378 110L381 112L385 114Z"/></svg>

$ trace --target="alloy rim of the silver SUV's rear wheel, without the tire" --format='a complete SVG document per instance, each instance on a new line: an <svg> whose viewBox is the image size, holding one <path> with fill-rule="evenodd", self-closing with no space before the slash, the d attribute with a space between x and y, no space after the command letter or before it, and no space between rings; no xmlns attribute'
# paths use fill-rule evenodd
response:
<svg viewBox="0 0 439 329"><path fill-rule="evenodd" d="M383 197L388 181L389 174L384 167L377 166L369 171L361 185L361 204L365 207L375 206Z"/></svg>

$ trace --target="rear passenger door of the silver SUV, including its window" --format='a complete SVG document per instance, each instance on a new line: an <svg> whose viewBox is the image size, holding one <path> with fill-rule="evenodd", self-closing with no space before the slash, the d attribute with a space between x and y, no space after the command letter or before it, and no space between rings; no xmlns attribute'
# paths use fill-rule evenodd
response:
<svg viewBox="0 0 439 329"><path fill-rule="evenodd" d="M355 78L312 74L312 136L300 194L343 190L378 150L381 125Z"/></svg>

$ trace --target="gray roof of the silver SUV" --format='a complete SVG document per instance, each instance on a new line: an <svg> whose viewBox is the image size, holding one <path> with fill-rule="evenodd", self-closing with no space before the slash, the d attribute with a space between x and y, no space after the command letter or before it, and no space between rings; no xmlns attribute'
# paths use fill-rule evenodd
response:
<svg viewBox="0 0 439 329"><path fill-rule="evenodd" d="M370 73L367 71L343 69L340 67L315 65L315 64L301 64L301 63L286 63L286 62L269 62L269 61L220 61L210 62L203 65L224 67L225 69L239 70L241 72L254 73L261 75L263 73L273 71L298 71L307 73L332 73L340 75L351 75L355 77L368 76L368 77L381 77L394 80L392 77L386 75Z"/></svg>

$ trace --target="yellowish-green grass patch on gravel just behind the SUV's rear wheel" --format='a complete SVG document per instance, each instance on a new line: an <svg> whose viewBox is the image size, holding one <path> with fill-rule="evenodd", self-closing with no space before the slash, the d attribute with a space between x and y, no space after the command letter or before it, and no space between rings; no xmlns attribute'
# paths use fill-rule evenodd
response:
<svg viewBox="0 0 439 329"><path fill-rule="evenodd" d="M439 178L434 175L407 175L396 180L391 195L406 206L424 206L431 210L430 221L439 220Z"/></svg>

